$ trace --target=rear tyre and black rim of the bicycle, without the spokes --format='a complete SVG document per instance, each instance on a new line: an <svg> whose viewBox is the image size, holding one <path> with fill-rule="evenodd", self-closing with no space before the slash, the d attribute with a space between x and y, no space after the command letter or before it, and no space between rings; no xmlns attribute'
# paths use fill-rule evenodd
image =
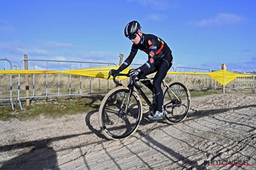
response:
<svg viewBox="0 0 256 170"><path fill-rule="evenodd" d="M188 103L188 104L187 104L187 108L186 108L186 110L185 110L185 113L184 113L183 116L182 116L180 119L178 119L178 120L171 120L171 119L168 118L168 116L165 114L165 115L163 116L163 118L165 119L165 121L166 121L168 124L177 124L177 123L182 122L182 121L187 117L187 114L188 114L188 111L189 111L189 107L190 107L190 93L189 93L189 90L188 90L187 86L186 86L184 83L180 82L180 81L172 81L172 82L168 83L168 87L169 87L169 88L170 88L171 86L173 86L173 85L180 85L181 87L183 87L183 89L185 90L186 95L187 95L187 103ZM168 90L168 87L165 87L165 88L163 89L163 99L165 98L165 94L166 94L166 92L167 92L167 90ZM162 102L163 102L163 99L162 99Z"/></svg>

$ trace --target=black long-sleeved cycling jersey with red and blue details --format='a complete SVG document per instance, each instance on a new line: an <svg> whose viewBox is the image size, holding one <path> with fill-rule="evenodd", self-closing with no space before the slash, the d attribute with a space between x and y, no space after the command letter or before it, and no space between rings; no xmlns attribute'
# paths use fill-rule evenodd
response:
<svg viewBox="0 0 256 170"><path fill-rule="evenodd" d="M138 45L133 44L131 47L131 52L123 64L119 67L118 71L123 71L126 69L132 62L133 58L138 52L138 49L144 51L148 54L148 61L143 64L141 67L141 71L145 71L148 68L151 68L155 61L160 59L165 59L166 57L172 57L170 55L172 53L171 49L161 38L153 35L153 34L142 34L142 40ZM168 58L171 59L172 58Z"/></svg>

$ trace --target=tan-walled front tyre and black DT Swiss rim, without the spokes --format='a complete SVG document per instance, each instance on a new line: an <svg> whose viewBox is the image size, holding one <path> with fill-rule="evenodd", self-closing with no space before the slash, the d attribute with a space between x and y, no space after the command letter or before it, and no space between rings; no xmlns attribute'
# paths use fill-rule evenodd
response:
<svg viewBox="0 0 256 170"><path fill-rule="evenodd" d="M120 140L120 139L124 139L124 138L128 138L130 137L134 132L136 132L140 121L142 119L142 102L140 100L139 95L136 93L136 91L133 90L132 92L132 96L136 99L137 104L138 104L138 118L137 121L134 125L134 127L131 129L130 132L124 134L124 135L114 135L112 133L110 133L108 131L108 129L106 128L105 124L104 124L104 109L106 107L107 104L107 100L114 96L115 94L117 94L118 92L128 92L129 93L129 88L126 86L121 86L121 87L116 87L114 89L112 89L102 100L100 108L99 108L99 114L98 114L98 122L99 122L99 126L100 126L100 130L103 133L104 136L106 136L108 139L110 140Z"/></svg>

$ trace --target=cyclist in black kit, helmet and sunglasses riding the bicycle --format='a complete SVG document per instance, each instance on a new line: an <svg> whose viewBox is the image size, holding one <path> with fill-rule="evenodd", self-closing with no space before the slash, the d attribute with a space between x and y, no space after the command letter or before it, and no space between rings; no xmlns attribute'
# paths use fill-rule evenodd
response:
<svg viewBox="0 0 256 170"><path fill-rule="evenodd" d="M141 82L153 92L152 104L157 105L156 112L150 119L158 120L163 116L163 91L161 89L161 82L172 66L172 51L161 38L153 34L142 33L141 26L137 21L129 22L125 27L124 33L133 43L131 52L117 70L110 70L109 75L113 76L126 69L131 64L138 49L147 53L147 62L139 68L129 70L129 75L138 75L139 79L147 79L146 75L156 72L153 84L150 80Z"/></svg>

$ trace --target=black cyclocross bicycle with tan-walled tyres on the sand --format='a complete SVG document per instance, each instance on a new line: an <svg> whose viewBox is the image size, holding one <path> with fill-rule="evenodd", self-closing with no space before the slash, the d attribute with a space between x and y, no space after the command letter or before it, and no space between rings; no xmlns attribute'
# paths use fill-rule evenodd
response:
<svg viewBox="0 0 256 170"><path fill-rule="evenodd" d="M130 81L128 86L123 86L123 84L117 83L115 78L116 76L127 76L130 77ZM138 90L139 94L142 96L142 98L146 101L147 105L149 106L149 113L151 116L154 115L154 112L156 111L156 105L153 105L151 101L147 98L145 93L142 91L142 85L138 85L137 81L143 81L143 80L153 80L154 78L148 78L148 79L135 79L137 76L132 77L131 75L127 74L115 74L113 76L113 81L116 85L121 87L116 87L108 92L108 94L103 98L100 108L99 108L99 114L98 114L98 121L99 126L101 129L101 132L110 140L120 140L127 138L131 136L134 132L136 132L141 119L142 119L142 102L137 94L137 92L134 90L134 87ZM108 77L108 79L110 76ZM183 84L180 81L172 81L170 83L166 83L164 80L162 81L162 84L164 86L163 89L163 109L164 109L164 115L163 118L166 120L168 124L176 124L179 122L182 122L188 114L189 106L190 106L190 93L188 88L185 84ZM175 86L175 88L171 88L172 86ZM177 88L179 86L179 88ZM173 90L171 90L173 89ZM170 90L170 92L168 91ZM181 92L185 92L186 98L178 98L174 92L176 92L177 95L181 94ZM124 94L123 94L124 93ZM123 96L123 99L121 100L121 96ZM164 101L166 94L170 97L169 100ZM174 96L171 97L171 94ZM167 98L168 98L167 96ZM118 100L118 97L120 100ZM182 112L183 115L180 118L177 118L176 115L174 115L174 109L175 108L181 108L182 105L184 105L184 102L187 102L187 106L185 106L184 111ZM117 105L120 105L118 107ZM124 106L126 104L126 106ZM157 103L156 103L157 104ZM131 106L131 108L129 107ZM109 107L110 114L104 114L104 112L107 110L106 108ZM117 113L113 113L113 109L117 107ZM129 107L129 109L128 109ZM171 108L171 111L169 112L167 109ZM110 120L113 116L116 116L113 120ZM130 117L129 117L130 116ZM134 122L132 121L132 118L134 119ZM174 118L174 119L173 119ZM119 124L118 121L120 120ZM117 122L113 122L117 121ZM121 123L122 122L122 123ZM131 124L133 123L133 125ZM123 130L124 133L121 132L120 135L117 135L116 131L120 132L121 128L123 128L125 124L128 124L128 126ZM112 125L119 125L117 128L111 128ZM108 127L107 127L108 126ZM113 131L113 132L112 132Z"/></svg>

